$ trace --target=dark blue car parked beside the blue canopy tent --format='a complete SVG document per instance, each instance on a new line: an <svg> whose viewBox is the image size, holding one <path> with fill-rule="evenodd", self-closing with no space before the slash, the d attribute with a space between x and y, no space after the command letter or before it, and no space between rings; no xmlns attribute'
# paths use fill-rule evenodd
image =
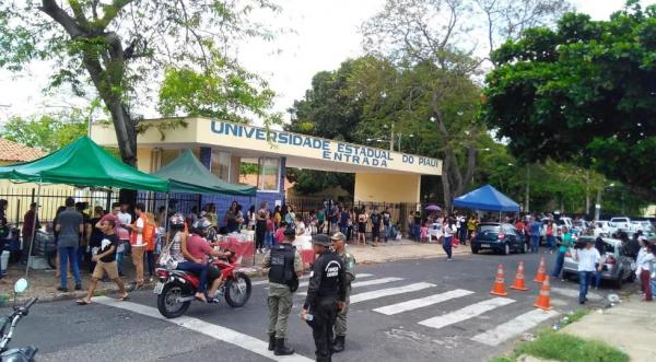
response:
<svg viewBox="0 0 656 362"><path fill-rule="evenodd" d="M527 253L528 243L524 233L516 231L512 224L484 222L478 225L471 241L471 253L478 254L481 249L491 249L505 255L511 252Z"/></svg>

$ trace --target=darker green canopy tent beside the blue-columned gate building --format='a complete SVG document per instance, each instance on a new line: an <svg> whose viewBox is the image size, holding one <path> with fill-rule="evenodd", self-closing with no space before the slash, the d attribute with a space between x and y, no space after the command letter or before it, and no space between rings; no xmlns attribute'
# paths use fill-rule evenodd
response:
<svg viewBox="0 0 656 362"><path fill-rule="evenodd" d="M255 197L257 187L230 184L214 176L190 150L185 150L152 175L167 179L171 192L223 194Z"/></svg>

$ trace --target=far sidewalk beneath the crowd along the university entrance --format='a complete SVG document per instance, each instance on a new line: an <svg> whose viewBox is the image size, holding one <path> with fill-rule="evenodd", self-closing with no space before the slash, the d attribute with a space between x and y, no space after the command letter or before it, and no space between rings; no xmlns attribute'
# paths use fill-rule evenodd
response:
<svg viewBox="0 0 656 362"><path fill-rule="evenodd" d="M377 247L371 245L349 245L349 253L351 253L358 264L373 264L373 262L385 262L390 260L402 260L402 259L417 259L417 258L435 258L444 257L445 253L442 249L442 245L438 244L418 244L409 240L402 240L400 242L389 241L387 244L379 243ZM454 248L454 255L470 254L471 249L469 246L460 245ZM255 255L255 267L247 267L246 273L251 278L262 277L262 270L259 267L265 258L263 254ZM71 300L79 299L85 295L89 285L91 275L87 270L81 270L82 272L82 291L73 291L75 282L72 279L68 281L68 293L57 291L59 285L59 278L55 278L55 270L30 270L30 288L27 292L20 296L19 300L30 299L37 296L42 302L59 301L59 300ZM130 289L132 281L134 280L134 269L131 262L128 260L124 264L122 281L126 287ZM0 306L11 305L13 302L13 287L12 283L22 278L25 275L25 267L19 265L10 265L7 270L5 280L8 283L0 283ZM145 283L142 290L152 289L154 282ZM118 291L118 288L114 282L99 282L96 289L96 295L113 295Z"/></svg>

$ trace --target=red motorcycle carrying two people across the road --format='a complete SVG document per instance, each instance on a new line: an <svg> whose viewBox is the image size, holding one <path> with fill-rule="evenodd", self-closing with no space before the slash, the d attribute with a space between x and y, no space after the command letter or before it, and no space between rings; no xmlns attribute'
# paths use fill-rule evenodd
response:
<svg viewBox="0 0 656 362"><path fill-rule="evenodd" d="M227 305L242 307L248 302L251 292L250 278L239 270L239 264L223 259L213 259L211 266L221 270L223 285L216 291L214 297L224 296ZM200 280L189 271L171 268L157 268L157 284L154 293L157 294L157 310L166 318L177 318L185 314L198 291ZM208 284L212 280L208 279Z"/></svg>

